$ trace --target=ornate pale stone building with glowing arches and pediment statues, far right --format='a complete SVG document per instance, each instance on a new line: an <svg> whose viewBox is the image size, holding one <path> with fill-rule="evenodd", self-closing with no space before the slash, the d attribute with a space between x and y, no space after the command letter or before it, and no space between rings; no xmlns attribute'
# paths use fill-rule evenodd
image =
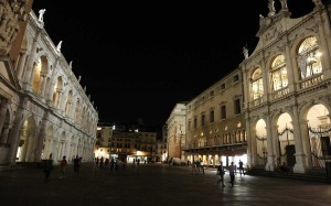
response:
<svg viewBox="0 0 331 206"><path fill-rule="evenodd" d="M239 65L248 164L306 173L331 155L330 4L312 0L311 12L291 19L296 8L282 0L276 11L273 2L257 22L257 46Z"/></svg>

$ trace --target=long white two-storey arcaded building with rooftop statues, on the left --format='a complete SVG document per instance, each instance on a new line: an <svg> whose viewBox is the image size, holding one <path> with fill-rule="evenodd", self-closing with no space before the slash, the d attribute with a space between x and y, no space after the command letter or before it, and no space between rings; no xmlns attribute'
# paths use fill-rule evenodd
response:
<svg viewBox="0 0 331 206"><path fill-rule="evenodd" d="M58 161L63 155L90 161L97 110L61 53L62 42L54 45L44 30L44 13L38 18L31 6L23 0L0 2L7 11L1 21L8 21L0 24L11 26L0 29L7 41L1 39L0 45L0 164L50 156Z"/></svg>

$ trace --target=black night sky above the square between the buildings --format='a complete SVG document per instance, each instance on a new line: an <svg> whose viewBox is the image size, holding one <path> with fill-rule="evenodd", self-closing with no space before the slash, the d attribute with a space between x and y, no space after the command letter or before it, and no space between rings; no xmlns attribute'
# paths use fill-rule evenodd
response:
<svg viewBox="0 0 331 206"><path fill-rule="evenodd" d="M89 3L86 3L89 2ZM158 3L156 3L158 2ZM276 10L280 3L275 1ZM311 0L288 0L292 18ZM268 0L74 1L34 0L46 9L44 28L86 94L99 121L162 126L189 101L233 71L257 44L258 15Z"/></svg>

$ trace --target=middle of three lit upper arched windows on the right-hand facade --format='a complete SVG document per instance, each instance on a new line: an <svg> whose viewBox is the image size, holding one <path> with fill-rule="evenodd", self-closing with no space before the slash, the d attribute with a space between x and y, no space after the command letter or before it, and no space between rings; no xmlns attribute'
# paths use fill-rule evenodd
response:
<svg viewBox="0 0 331 206"><path fill-rule="evenodd" d="M288 85L287 68L284 55L278 55L271 64L271 84L273 90L279 90Z"/></svg>

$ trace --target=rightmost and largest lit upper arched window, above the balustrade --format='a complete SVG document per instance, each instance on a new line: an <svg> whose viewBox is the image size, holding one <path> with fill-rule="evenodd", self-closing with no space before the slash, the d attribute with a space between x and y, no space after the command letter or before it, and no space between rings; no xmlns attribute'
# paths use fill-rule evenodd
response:
<svg viewBox="0 0 331 206"><path fill-rule="evenodd" d="M321 55L322 53L319 51L314 36L307 37L300 44L298 50L298 65L301 79L322 73Z"/></svg>

